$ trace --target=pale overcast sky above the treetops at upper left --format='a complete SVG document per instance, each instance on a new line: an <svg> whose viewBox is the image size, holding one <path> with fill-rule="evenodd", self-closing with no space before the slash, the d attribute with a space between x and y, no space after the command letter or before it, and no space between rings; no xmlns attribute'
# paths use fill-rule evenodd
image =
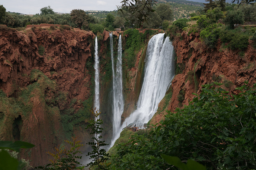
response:
<svg viewBox="0 0 256 170"><path fill-rule="evenodd" d="M73 9L81 10L116 10L122 0L1 0L0 5L6 11L22 14L40 14L40 9L51 6L54 12L70 13Z"/></svg>

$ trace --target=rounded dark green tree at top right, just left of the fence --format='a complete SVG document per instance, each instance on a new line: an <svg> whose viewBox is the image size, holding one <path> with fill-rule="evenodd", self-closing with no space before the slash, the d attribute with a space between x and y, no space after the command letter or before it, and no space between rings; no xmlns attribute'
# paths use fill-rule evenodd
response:
<svg viewBox="0 0 256 170"><path fill-rule="evenodd" d="M224 23L230 28L234 29L234 24L244 23L244 14L242 10L228 11L226 17L223 19Z"/></svg>

